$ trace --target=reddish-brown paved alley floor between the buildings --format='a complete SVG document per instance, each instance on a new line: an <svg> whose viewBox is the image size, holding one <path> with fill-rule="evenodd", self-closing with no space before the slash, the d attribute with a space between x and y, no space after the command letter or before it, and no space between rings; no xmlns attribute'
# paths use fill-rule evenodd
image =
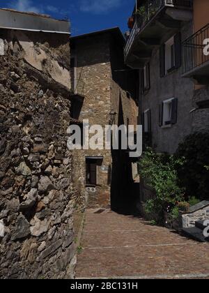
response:
<svg viewBox="0 0 209 293"><path fill-rule="evenodd" d="M76 278L209 278L208 243L141 218L88 209Z"/></svg>

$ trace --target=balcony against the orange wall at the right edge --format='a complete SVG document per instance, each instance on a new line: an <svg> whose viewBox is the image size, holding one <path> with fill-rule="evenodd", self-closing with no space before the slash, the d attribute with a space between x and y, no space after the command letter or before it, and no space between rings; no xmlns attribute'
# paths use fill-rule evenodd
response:
<svg viewBox="0 0 209 293"><path fill-rule="evenodd" d="M208 43L209 24L183 42L183 77L193 78L199 84L209 83Z"/></svg>

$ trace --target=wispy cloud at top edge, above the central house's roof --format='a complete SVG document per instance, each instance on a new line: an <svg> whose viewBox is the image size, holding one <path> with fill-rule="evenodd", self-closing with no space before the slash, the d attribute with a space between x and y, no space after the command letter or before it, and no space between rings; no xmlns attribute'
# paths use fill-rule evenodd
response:
<svg viewBox="0 0 209 293"><path fill-rule="evenodd" d="M80 10L95 14L107 13L109 10L118 8L123 0L82 0Z"/></svg>

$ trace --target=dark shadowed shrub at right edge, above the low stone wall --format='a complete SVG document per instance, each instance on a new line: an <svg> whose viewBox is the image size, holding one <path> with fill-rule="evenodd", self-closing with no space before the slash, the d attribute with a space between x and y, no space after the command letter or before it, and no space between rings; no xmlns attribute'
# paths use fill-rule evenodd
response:
<svg viewBox="0 0 209 293"><path fill-rule="evenodd" d="M180 186L185 187L186 199L209 197L209 133L194 133L185 138L176 151L176 159L185 158L178 165Z"/></svg>

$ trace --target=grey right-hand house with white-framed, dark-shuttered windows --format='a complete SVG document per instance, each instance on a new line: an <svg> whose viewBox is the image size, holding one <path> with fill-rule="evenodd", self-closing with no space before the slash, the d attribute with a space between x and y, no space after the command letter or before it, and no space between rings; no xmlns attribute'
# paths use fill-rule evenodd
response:
<svg viewBox="0 0 209 293"><path fill-rule="evenodd" d="M201 80L198 75L204 72L193 76L188 73L190 69L207 66L208 58L203 57L204 64L198 64L197 57L203 36L208 36L207 29L201 36L197 33L200 38L194 37L193 42L189 37L206 25L208 17L202 17L201 12L207 13L208 7L204 0L144 0L138 1L138 13L130 19L125 63L140 71L144 144L156 151L174 153L186 135L209 127L208 109L196 105L199 98L204 100L208 96L207 73ZM184 40L187 42L182 47ZM196 86L198 80L203 87Z"/></svg>

